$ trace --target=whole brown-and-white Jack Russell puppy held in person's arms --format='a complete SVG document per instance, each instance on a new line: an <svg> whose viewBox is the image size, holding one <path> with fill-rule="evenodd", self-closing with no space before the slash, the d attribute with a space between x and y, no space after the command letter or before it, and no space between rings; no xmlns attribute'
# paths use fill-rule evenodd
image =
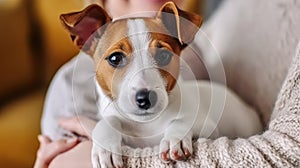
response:
<svg viewBox="0 0 300 168"><path fill-rule="evenodd" d="M192 138L258 133L256 112L225 87L180 80L180 52L201 16L161 7L154 18L112 20L100 6L61 15L74 43L95 62L100 121L93 130L93 167L122 167L121 145L159 145L163 161L192 152Z"/></svg>

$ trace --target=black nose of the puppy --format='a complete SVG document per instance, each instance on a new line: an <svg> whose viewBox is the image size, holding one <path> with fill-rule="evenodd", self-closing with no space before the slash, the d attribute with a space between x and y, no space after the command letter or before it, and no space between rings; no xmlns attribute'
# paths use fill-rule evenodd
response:
<svg viewBox="0 0 300 168"><path fill-rule="evenodd" d="M157 94L152 90L142 89L135 95L136 105L143 110L148 110L157 102Z"/></svg>

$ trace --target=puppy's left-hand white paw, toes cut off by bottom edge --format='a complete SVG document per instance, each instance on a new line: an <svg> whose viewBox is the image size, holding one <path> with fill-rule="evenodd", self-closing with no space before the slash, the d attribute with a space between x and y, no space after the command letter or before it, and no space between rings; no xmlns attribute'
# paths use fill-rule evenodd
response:
<svg viewBox="0 0 300 168"><path fill-rule="evenodd" d="M112 146L108 149L93 143L92 148L93 168L121 168L123 160L121 146Z"/></svg>

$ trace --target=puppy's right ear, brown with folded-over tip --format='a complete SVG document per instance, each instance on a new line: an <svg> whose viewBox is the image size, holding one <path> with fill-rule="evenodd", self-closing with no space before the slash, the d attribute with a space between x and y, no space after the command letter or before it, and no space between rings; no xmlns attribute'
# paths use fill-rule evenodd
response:
<svg viewBox="0 0 300 168"><path fill-rule="evenodd" d="M193 41L198 32L202 17L179 9L174 2L164 4L157 14L172 36L177 37L179 42L186 46Z"/></svg>

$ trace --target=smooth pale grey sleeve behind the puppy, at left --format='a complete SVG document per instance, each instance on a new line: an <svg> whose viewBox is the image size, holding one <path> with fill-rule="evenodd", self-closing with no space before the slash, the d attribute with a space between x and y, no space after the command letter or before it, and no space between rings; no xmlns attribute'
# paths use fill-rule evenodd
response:
<svg viewBox="0 0 300 168"><path fill-rule="evenodd" d="M90 56L79 53L55 74L47 91L41 120L42 133L52 140L75 136L59 127L58 119L82 115L97 118L94 63Z"/></svg>

